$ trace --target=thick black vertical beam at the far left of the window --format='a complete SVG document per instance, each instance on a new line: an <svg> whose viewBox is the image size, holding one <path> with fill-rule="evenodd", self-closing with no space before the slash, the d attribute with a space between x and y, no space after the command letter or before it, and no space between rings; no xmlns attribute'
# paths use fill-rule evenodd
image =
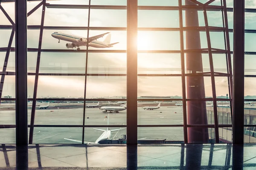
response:
<svg viewBox="0 0 256 170"><path fill-rule="evenodd" d="M26 0L15 0L16 144L28 143Z"/></svg>

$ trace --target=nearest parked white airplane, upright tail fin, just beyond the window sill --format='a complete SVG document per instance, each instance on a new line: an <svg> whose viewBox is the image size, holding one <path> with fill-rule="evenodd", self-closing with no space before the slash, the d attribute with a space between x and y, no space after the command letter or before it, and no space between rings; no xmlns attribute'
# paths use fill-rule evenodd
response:
<svg viewBox="0 0 256 170"><path fill-rule="evenodd" d="M109 125L109 113L108 113L108 125ZM122 130L122 129L125 129L125 128L120 128L120 129L115 129L115 130L110 130L109 127L107 127L107 130L101 130L101 129L96 129L96 128L93 128L93 129L102 131L103 133L102 133L101 136L99 136L99 138L95 142L86 142L86 141L84 141L86 144L99 144L99 142L102 141L102 140L110 139L111 132L119 131L119 130ZM64 138L64 139L82 143L82 141L75 140L75 139L67 139L67 138Z"/></svg>

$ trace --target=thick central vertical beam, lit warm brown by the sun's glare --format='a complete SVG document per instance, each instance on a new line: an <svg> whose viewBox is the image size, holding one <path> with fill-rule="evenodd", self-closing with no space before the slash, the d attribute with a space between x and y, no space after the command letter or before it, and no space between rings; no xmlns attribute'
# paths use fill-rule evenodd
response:
<svg viewBox="0 0 256 170"><path fill-rule="evenodd" d="M127 144L137 144L137 0L127 1Z"/></svg>

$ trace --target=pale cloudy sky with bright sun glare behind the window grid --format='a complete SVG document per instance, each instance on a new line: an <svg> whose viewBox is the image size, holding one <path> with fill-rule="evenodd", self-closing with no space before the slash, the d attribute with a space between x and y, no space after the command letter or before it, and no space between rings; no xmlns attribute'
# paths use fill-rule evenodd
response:
<svg viewBox="0 0 256 170"><path fill-rule="evenodd" d="M207 0L199 0L205 3ZM39 2L28 2L27 11ZM56 0L50 4L87 5L88 0ZM91 0L92 5L126 5L126 0ZM183 0L183 5L184 5ZM178 6L178 0L138 0L139 6ZM212 5L220 5L216 0ZM15 20L14 3L2 3L3 8ZM227 0L232 7L232 0ZM245 0L246 8L256 8L256 0ZM28 25L40 25L42 7L27 19ZM46 8L44 26L87 26L88 9L53 9ZM183 11L183 25L185 25ZM209 26L222 26L220 11L207 12ZM126 27L126 10L92 9L90 26ZM199 26L204 26L202 11L198 11ZM233 28L233 13L228 12L229 28ZM10 25L0 11L0 25ZM138 27L179 27L178 11L138 11ZM245 29L256 29L256 14L245 14ZM67 42L53 38L51 34L62 31L87 37L87 30L44 30L42 49L66 49ZM89 31L89 37L108 31ZM0 47L7 47L11 30L0 30ZM185 33L186 34L186 33ZM185 37L184 34L184 37ZM119 42L113 48L104 50L126 50L126 31L111 31L111 43ZM38 48L39 30L27 31L28 48ZM210 34L212 48L224 49L224 37L221 32ZM201 48L207 48L206 33L201 32ZM104 40L100 38L99 40ZM186 38L184 39L186 40ZM245 51L255 51L256 34L245 35ZM15 47L15 41L12 43ZM233 33L230 33L230 47L233 50ZM86 47L81 47L86 49ZM90 47L89 49L96 49ZM185 45L186 49L186 45ZM138 50L180 50L179 31L138 31ZM0 69L3 68L5 52L0 52ZM40 73L85 73L86 54L83 53L41 53ZM28 72L35 73L37 53L28 53ZM186 55L185 55L186 57ZM245 55L245 74L256 74L256 56ZM209 71L208 54L202 54L204 71ZM224 54L213 54L214 69L226 73ZM1 64L2 63L2 64ZM180 54L143 54L138 53L138 74L180 74ZM9 57L7 71L15 71L15 53ZM89 53L88 70L90 74L125 74L125 53ZM28 76L28 97L33 96L35 76ZM38 98L41 97L84 97L84 77L40 76L38 82ZM217 96L228 93L227 77L215 77ZM256 79L245 78L245 96L256 95ZM210 77L204 78L206 96L212 96ZM15 77L6 76L3 96L15 97ZM138 77L138 96L182 96L181 77ZM126 96L126 77L87 77L86 98L103 96Z"/></svg>

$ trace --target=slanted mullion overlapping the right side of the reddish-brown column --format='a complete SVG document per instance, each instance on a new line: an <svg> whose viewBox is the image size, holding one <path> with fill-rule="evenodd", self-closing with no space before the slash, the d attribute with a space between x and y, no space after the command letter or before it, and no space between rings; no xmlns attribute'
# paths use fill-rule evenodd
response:
<svg viewBox="0 0 256 170"><path fill-rule="evenodd" d="M208 53L209 53L209 62L210 62L210 71L211 71L213 113L214 113L214 125L215 125L215 127L214 127L214 129L215 129L215 141L216 141L216 143L219 143L217 100L216 100L216 88L215 88L213 59L212 59L212 47L211 47L211 40L210 40L210 33L209 33L209 25L208 25L208 19L207 19L206 6L203 6L203 9L204 9L204 22L205 22Z"/></svg>

